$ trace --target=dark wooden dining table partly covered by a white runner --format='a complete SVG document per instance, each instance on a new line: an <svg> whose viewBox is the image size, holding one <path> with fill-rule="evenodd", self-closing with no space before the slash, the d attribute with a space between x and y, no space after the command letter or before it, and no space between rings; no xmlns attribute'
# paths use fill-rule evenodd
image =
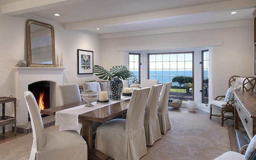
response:
<svg viewBox="0 0 256 160"><path fill-rule="evenodd" d="M106 122L111 120L119 115L122 115L127 112L130 99L120 101L111 105L107 105L102 108L89 111L78 116L78 119L82 120L82 137L87 142L88 150L93 149L93 133L92 133L92 122ZM41 114L46 115L55 115L57 111L62 111L64 109L69 109L72 107L85 105L86 102L76 102L68 105L62 105L57 107L52 107L49 109L44 109L41 111Z"/></svg>

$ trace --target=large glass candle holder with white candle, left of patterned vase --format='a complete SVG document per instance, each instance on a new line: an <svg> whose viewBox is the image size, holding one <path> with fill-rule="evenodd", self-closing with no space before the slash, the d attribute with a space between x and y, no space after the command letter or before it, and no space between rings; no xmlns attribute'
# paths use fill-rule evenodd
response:
<svg viewBox="0 0 256 160"><path fill-rule="evenodd" d="M100 89L97 89L98 91L98 97L97 102L98 104L106 104L110 103L109 101L109 81L98 81L100 85L97 85L97 87L100 87Z"/></svg>

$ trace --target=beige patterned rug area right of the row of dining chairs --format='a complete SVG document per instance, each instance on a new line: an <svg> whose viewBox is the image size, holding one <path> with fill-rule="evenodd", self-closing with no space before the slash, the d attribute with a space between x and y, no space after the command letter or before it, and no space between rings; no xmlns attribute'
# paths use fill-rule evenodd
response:
<svg viewBox="0 0 256 160"><path fill-rule="evenodd" d="M140 160L211 160L230 151L226 122L220 117L169 111L171 129Z"/></svg>

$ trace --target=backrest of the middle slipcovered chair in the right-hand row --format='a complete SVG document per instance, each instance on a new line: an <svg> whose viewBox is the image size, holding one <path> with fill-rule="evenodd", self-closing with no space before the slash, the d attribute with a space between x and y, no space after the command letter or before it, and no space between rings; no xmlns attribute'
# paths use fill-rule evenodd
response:
<svg viewBox="0 0 256 160"><path fill-rule="evenodd" d="M146 115L145 120L150 121L157 117L157 110L158 110L158 102L160 97L160 92L163 85L153 85L150 89L147 105L146 105ZM158 121L157 121L158 122Z"/></svg>

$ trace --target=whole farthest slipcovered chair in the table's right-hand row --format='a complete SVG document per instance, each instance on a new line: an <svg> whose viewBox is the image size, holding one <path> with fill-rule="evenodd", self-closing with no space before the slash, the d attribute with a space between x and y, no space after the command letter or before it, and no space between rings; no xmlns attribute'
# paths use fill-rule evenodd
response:
<svg viewBox="0 0 256 160"><path fill-rule="evenodd" d="M158 120L160 125L161 133L166 134L166 130L171 128L171 123L168 115L167 105L168 105L168 98L170 94L170 89L172 86L172 82L164 83L159 104L158 104Z"/></svg>

